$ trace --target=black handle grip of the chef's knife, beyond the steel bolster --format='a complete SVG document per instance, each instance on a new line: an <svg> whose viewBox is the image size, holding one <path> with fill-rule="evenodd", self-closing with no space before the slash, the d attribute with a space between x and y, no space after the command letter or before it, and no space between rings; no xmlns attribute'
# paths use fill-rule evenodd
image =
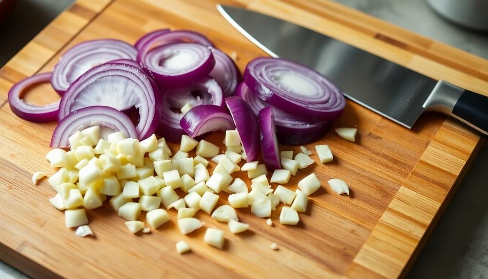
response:
<svg viewBox="0 0 488 279"><path fill-rule="evenodd" d="M452 109L452 116L488 136L488 97L465 90Z"/></svg>

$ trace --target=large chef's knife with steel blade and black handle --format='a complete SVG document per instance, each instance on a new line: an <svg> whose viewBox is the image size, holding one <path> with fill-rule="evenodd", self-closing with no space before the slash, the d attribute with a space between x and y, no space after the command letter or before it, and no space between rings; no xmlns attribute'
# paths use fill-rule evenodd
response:
<svg viewBox="0 0 488 279"><path fill-rule="evenodd" d="M305 27L250 10L217 5L224 18L272 57L307 65L334 81L347 98L411 128L428 110L450 115L488 135L488 97L433 80Z"/></svg>

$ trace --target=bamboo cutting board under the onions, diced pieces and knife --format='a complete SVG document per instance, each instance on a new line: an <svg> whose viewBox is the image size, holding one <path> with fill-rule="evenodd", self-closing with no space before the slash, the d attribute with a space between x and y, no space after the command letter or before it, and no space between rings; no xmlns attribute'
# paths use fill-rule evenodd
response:
<svg viewBox="0 0 488 279"><path fill-rule="evenodd" d="M488 93L487 60L339 4L220 2L302 24L429 77ZM271 227L249 209L239 209L239 218L251 229L233 235L226 224L197 213L206 227L224 230L223 250L203 243L204 229L183 236L173 210L170 222L150 234L134 236L108 204L88 212L96 237L78 238L64 227L62 212L49 204L54 191L48 183L32 185L35 171L53 172L43 158L55 123L35 124L13 115L6 102L13 83L52 70L60 54L81 41L117 38L134 43L146 32L167 27L203 33L226 53L237 54L243 70L249 60L264 53L218 14L216 3L78 0L0 70L1 260L36 278L395 278L406 274L480 141L470 130L438 114L422 116L407 130L348 101L344 116L334 125L357 126L358 141L329 133L320 143L329 144L334 161L300 170L286 184L294 190L311 171L323 184L310 196L298 226L279 224L280 208L272 213ZM56 98L49 85L25 96L37 103ZM208 138L222 146L223 133ZM315 144L307 145L314 153ZM334 194L326 186L331 178L346 180L351 196ZM218 205L225 203L226 194ZM175 243L182 239L192 253L176 253ZM269 248L272 242L278 243L278 251Z"/></svg>

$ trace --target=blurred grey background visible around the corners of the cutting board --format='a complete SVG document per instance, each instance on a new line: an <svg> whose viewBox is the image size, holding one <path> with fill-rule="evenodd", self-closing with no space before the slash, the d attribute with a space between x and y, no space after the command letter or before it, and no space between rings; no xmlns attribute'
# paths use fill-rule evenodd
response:
<svg viewBox="0 0 488 279"><path fill-rule="evenodd" d="M488 59L488 0L336 1ZM0 0L0 67L72 2ZM408 278L488 278L487 167L484 144ZM27 277L0 261L0 279L14 278Z"/></svg>

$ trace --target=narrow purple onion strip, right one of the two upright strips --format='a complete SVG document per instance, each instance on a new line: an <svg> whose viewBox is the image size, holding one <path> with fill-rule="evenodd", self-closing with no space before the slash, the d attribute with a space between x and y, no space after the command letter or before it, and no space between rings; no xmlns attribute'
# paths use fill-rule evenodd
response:
<svg viewBox="0 0 488 279"><path fill-rule="evenodd" d="M278 139L276 139L273 110L270 106L259 111L258 122L264 164L270 170L281 169L280 149L278 148Z"/></svg>

